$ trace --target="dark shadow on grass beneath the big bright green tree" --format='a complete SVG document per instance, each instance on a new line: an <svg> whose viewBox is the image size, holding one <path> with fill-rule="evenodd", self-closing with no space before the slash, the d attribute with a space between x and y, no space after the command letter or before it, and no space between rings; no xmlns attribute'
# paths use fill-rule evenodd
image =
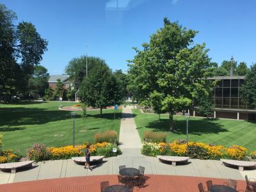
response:
<svg viewBox="0 0 256 192"><path fill-rule="evenodd" d="M154 129L152 131L168 131L170 132L169 120L162 119L149 122L146 128ZM137 128L137 129L140 129ZM189 134L202 135L205 133L228 132L228 129L223 128L223 125L218 124L217 120L200 120L193 119L189 120ZM175 134L186 134L186 120L174 120L174 133Z"/></svg>

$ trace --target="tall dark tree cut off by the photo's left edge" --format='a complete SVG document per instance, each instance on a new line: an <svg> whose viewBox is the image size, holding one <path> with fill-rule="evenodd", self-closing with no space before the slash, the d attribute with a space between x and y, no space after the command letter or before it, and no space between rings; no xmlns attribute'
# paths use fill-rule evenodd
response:
<svg viewBox="0 0 256 192"><path fill-rule="evenodd" d="M17 16L0 4L0 96L10 100L17 92L25 92L35 65L47 50L47 41L30 22L15 25Z"/></svg>

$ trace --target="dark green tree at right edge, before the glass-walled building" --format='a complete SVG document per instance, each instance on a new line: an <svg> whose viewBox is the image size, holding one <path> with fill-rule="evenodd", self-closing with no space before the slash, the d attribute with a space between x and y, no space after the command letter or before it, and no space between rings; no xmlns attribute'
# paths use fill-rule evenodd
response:
<svg viewBox="0 0 256 192"><path fill-rule="evenodd" d="M240 93L248 105L256 108L256 63L247 72Z"/></svg>

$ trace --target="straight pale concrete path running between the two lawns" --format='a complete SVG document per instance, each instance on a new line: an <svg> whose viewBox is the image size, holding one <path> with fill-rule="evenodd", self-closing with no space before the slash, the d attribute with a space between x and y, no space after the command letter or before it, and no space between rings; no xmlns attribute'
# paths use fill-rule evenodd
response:
<svg viewBox="0 0 256 192"><path fill-rule="evenodd" d="M122 157L141 157L141 140L132 115L132 106L123 108L120 126L120 149Z"/></svg>

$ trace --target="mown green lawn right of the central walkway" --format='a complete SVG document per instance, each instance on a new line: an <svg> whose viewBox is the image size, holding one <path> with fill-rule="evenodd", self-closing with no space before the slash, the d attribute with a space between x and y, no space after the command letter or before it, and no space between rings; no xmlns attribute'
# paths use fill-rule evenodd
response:
<svg viewBox="0 0 256 192"><path fill-rule="evenodd" d="M167 132L167 141L186 139L186 119L175 116L175 132L170 132L168 115L161 115L161 121L156 114L141 113L133 109L135 122L141 140L144 131ZM189 119L189 141L215 143L216 145L241 145L248 150L256 150L256 122L237 120L208 120L191 117Z"/></svg>

